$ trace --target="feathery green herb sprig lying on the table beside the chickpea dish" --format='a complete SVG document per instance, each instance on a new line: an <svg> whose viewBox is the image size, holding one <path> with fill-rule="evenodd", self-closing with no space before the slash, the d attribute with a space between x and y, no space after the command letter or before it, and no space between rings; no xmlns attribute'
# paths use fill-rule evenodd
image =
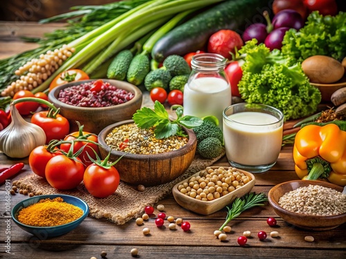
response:
<svg viewBox="0 0 346 259"><path fill-rule="evenodd" d="M256 206L264 206L263 202L266 202L267 200L268 198L264 193L247 193L241 198L235 198L235 201L232 204L232 208L230 209L229 207L226 207L228 209L226 221L219 228L219 231L222 231L222 229L224 229L224 227L230 222L230 220L237 218L243 211Z"/></svg>

